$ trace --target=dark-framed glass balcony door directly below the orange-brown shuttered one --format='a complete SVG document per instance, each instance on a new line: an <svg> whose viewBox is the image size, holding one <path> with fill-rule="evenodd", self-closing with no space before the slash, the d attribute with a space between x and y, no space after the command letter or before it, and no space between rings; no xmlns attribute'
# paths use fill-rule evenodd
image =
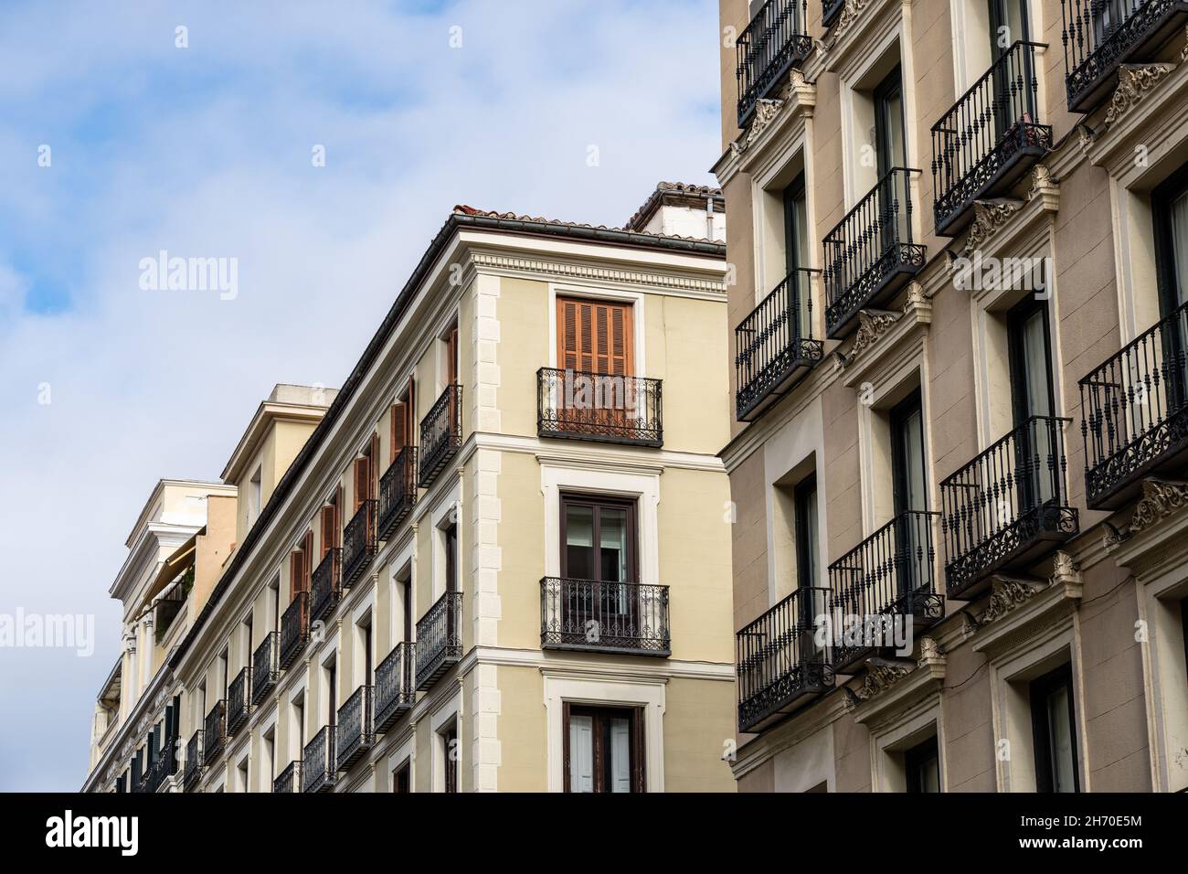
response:
<svg viewBox="0 0 1188 874"><path fill-rule="evenodd" d="M596 640L634 636L634 504L563 495L561 513L561 576L582 581L562 598L562 628Z"/></svg>

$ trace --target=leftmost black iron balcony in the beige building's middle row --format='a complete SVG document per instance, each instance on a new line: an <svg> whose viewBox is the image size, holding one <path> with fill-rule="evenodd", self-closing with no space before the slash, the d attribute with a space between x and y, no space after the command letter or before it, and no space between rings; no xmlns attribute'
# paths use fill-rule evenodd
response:
<svg viewBox="0 0 1188 874"><path fill-rule="evenodd" d="M820 363L813 339L813 273L794 270L734 328L734 411L740 422L758 419Z"/></svg>

